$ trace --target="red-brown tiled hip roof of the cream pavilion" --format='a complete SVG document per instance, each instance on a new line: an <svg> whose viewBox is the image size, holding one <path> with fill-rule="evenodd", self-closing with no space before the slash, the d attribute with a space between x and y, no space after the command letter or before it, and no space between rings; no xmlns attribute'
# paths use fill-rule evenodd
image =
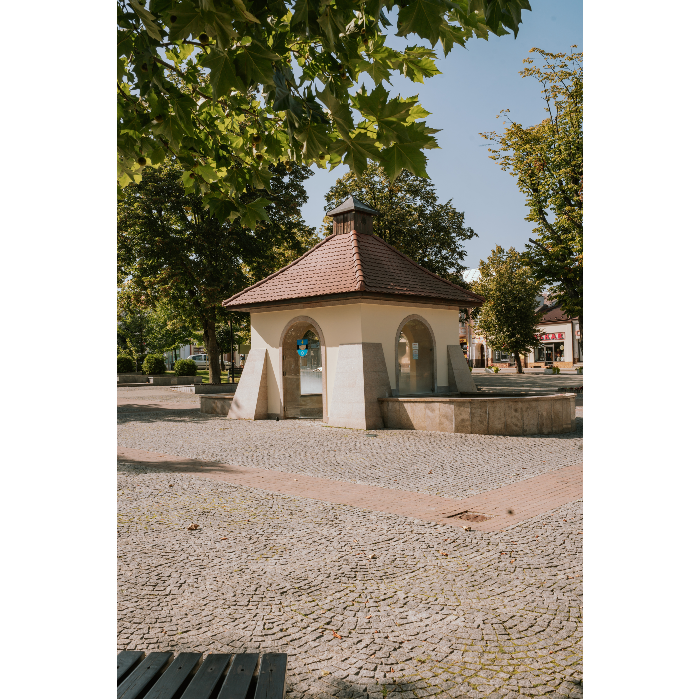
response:
<svg viewBox="0 0 699 699"><path fill-rule="evenodd" d="M352 231L324 238L223 305L236 309L331 294L424 297L462 306L482 303L481 296L438 277L382 238Z"/></svg>

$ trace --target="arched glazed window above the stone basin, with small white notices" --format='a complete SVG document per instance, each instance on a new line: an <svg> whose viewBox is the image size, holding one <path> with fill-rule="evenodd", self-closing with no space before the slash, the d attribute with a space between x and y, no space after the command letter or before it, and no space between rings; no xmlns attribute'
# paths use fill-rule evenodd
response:
<svg viewBox="0 0 699 699"><path fill-rule="evenodd" d="M434 393L434 342L428 326L415 317L408 320L401 328L397 345L398 394Z"/></svg>

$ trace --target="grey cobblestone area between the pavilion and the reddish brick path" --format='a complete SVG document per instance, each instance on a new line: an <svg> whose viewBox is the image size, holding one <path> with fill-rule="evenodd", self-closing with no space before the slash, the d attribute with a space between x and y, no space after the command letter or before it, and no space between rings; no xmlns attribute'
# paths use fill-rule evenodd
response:
<svg viewBox="0 0 699 699"><path fill-rule="evenodd" d="M582 461L582 419L575 432L535 437L377 430L367 438L315 420L167 411L118 422L122 447L457 499Z"/></svg>

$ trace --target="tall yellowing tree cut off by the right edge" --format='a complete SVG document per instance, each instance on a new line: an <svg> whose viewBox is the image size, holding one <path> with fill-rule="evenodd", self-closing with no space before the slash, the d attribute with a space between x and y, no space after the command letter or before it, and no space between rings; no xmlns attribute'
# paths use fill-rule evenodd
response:
<svg viewBox="0 0 699 699"><path fill-rule="evenodd" d="M519 75L538 80L548 116L528 128L507 117L503 134L481 136L498 146L489 149L491 159L517 178L526 220L536 224L524 260L536 279L551 285L563 310L579 318L582 338L582 53L530 53L544 66L525 59L532 67Z"/></svg>

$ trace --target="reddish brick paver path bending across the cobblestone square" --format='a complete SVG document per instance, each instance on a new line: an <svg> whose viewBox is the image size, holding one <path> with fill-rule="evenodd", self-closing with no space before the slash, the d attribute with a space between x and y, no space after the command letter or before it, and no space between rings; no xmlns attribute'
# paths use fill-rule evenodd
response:
<svg viewBox="0 0 699 699"><path fill-rule="evenodd" d="M403 514L405 517L470 526L476 531L498 531L538 514L582 498L582 463L462 500L423 495L395 488L385 489L358 483L316 478L300 473L243 468L227 463L186 459L182 456L117 447L117 459L124 463L157 466L171 473L192 473L199 477L237 483L254 488L303 496L326 503L341 503L367 510ZM447 519L459 512L491 515L483 522Z"/></svg>

